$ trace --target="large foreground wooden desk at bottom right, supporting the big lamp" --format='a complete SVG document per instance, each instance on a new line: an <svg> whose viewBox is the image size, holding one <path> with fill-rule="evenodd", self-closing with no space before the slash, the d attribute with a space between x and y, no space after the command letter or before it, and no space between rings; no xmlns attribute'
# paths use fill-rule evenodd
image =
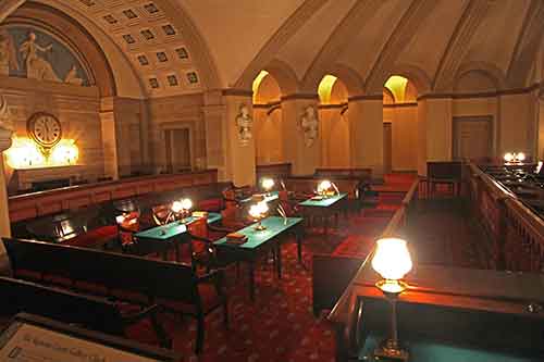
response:
<svg viewBox="0 0 544 362"><path fill-rule="evenodd" d="M391 310L374 286L379 279L367 265L330 315L346 327L337 329L341 361L349 353L368 355L388 334ZM407 282L397 321L412 361L544 360L544 313L528 309L544 303L544 276L420 266Z"/></svg>

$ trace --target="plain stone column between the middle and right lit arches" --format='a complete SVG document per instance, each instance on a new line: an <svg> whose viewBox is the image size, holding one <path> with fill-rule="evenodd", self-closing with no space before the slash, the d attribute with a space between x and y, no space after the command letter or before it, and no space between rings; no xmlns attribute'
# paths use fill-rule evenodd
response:
<svg viewBox="0 0 544 362"><path fill-rule="evenodd" d="M351 167L372 168L373 178L383 177L383 96L348 99Z"/></svg>

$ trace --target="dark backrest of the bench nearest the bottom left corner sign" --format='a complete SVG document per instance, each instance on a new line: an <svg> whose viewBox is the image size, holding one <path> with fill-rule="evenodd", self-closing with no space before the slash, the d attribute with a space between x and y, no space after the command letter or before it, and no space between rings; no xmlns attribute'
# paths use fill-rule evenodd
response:
<svg viewBox="0 0 544 362"><path fill-rule="evenodd" d="M2 315L27 312L114 335L123 333L116 305L103 298L3 276L0 276L0 296Z"/></svg>

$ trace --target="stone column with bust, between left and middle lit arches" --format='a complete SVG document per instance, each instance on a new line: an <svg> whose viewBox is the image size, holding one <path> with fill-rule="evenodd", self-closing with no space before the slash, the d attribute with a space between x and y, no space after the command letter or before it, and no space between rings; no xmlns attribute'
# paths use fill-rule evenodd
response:
<svg viewBox="0 0 544 362"><path fill-rule="evenodd" d="M313 175L321 166L321 125L319 124L318 95L290 95L282 98L282 141L285 162L294 175ZM318 118L318 135L308 140L302 129L302 117L311 107Z"/></svg>

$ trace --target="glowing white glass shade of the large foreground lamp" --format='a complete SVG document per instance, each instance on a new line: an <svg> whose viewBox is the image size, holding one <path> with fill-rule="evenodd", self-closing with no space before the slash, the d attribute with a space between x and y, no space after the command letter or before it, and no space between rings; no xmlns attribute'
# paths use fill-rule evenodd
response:
<svg viewBox="0 0 544 362"><path fill-rule="evenodd" d="M401 279L412 267L406 240L385 238L376 241L378 248L372 258L372 269L384 279Z"/></svg>

